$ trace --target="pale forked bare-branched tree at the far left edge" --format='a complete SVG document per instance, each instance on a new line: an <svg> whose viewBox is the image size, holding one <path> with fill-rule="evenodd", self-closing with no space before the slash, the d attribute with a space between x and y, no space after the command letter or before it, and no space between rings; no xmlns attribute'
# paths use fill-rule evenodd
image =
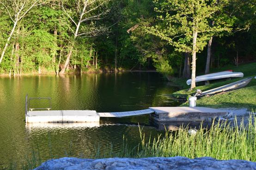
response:
<svg viewBox="0 0 256 170"><path fill-rule="evenodd" d="M0 64L5 55L9 41L12 38L12 34L15 31L17 23L28 13L28 11L30 11L32 7L41 5L41 3L38 2L39 0L6 0L5 3L0 2L0 4L5 6L6 11L8 12L9 17L13 22L12 31L10 32L9 37L6 40L5 46L0 57Z"/></svg>

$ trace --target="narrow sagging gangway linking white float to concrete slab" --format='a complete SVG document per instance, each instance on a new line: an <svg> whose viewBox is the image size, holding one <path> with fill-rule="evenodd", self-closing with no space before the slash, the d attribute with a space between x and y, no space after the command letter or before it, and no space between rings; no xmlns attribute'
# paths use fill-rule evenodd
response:
<svg viewBox="0 0 256 170"><path fill-rule="evenodd" d="M145 109L145 110L135 110L135 111L129 111L129 112L104 112L104 113L98 113L99 117L116 117L121 118L125 116L137 116L141 114L150 114L154 113L154 110L152 109Z"/></svg>

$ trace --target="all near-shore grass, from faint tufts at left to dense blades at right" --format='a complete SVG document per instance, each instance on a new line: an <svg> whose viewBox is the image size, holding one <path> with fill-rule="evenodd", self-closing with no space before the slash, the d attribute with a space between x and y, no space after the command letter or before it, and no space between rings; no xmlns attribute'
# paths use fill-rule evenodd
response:
<svg viewBox="0 0 256 170"><path fill-rule="evenodd" d="M123 136L123 145L118 153L113 152L112 145L96 146L94 148L95 153L90 158L185 156L193 159L209 156L221 160L244 159L256 162L256 124L252 123L255 119L255 114L252 114L248 125L242 124L240 126L234 119L235 126L232 127L227 122L213 122L207 129L198 129L194 135L188 133L188 127L181 127L176 132L167 131L165 134L160 134L148 141L145 140L143 128L139 127L141 142L138 146L129 147L127 145L128 139ZM52 158L56 159L53 156ZM39 152L33 152L32 156L28 157L21 165L13 162L6 169L14 170L17 167L24 170L33 169L43 161L45 160L40 158Z"/></svg>

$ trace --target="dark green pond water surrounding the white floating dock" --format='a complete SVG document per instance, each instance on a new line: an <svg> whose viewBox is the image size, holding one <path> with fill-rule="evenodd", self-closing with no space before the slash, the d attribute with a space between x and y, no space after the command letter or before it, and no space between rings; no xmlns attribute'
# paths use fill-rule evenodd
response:
<svg viewBox="0 0 256 170"><path fill-rule="evenodd" d="M158 131L148 115L104 118L99 124L26 125L24 103L29 97L51 97L52 110L118 112L157 106L177 106L171 86L158 73L117 73L0 77L0 167L22 162L32 151L43 160L70 156L94 158L95 148L112 145L120 152L123 137L129 147L140 142L138 123L146 136ZM44 107L48 103L31 103ZM99 147L100 146L100 147ZM103 152L101 152L103 153Z"/></svg>

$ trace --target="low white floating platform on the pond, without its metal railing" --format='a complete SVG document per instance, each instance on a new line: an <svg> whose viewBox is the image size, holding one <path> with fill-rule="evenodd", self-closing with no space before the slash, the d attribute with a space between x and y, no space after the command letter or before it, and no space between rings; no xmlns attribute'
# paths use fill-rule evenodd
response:
<svg viewBox="0 0 256 170"><path fill-rule="evenodd" d="M28 111L27 123L68 123L68 122L99 122L95 110L45 110Z"/></svg>

